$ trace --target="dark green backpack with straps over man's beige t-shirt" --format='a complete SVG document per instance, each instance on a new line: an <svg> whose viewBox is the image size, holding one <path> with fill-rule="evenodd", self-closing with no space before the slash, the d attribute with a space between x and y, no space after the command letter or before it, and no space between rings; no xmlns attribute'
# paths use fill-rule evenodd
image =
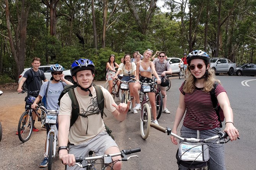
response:
<svg viewBox="0 0 256 170"><path fill-rule="evenodd" d="M68 93L68 96L70 97L70 99L72 101L72 114L71 114L71 120L70 120L70 127L72 127L72 125L75 123L75 121L78 118L78 114L80 112L80 107L79 107L77 97L76 97L75 91L74 91L74 88L76 88L76 87L77 87L77 85L66 85L64 87L63 91L60 93L60 96L59 96L59 99L58 99L58 101L59 101L58 104L60 105L60 99L66 93ZM103 119L103 115L105 115L105 117L107 117L107 115L104 113L104 95L103 95L103 92L102 92L102 90L99 86L93 84L93 87L96 90L97 103L98 103L99 111L101 112L101 118ZM92 114L94 114L94 113L92 113ZM88 115L91 115L91 114L88 114ZM111 134L112 130L110 130L109 127L107 127L107 125L105 123L104 123L104 125L105 125L107 133L114 140L114 136Z"/></svg>

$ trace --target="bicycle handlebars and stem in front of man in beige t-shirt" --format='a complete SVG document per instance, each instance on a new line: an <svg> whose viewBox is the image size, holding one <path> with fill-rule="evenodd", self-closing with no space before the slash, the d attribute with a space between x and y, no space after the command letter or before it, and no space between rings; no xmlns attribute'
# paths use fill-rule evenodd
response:
<svg viewBox="0 0 256 170"><path fill-rule="evenodd" d="M95 167L96 164L101 165L101 170L106 170L108 167L111 167L110 169L113 170L113 165L116 164L118 161L127 161L131 157L139 157L137 155L132 155L127 157L127 155L140 152L140 148L135 148L135 149L124 149L121 152L117 152L114 154L105 154L105 155L100 155L100 156L92 156L93 151L89 152L89 157L76 157L75 158L75 163L78 165L80 168L86 168L86 170L96 170L97 168ZM118 159L116 161L113 161L112 157L115 156L121 156L121 159ZM96 162L96 160L101 160L101 162Z"/></svg>

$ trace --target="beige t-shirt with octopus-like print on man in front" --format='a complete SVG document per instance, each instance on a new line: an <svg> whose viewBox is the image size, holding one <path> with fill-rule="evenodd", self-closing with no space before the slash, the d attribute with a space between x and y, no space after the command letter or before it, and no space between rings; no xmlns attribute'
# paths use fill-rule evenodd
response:
<svg viewBox="0 0 256 170"><path fill-rule="evenodd" d="M102 86L100 87L105 99L104 109L107 109L109 112L114 112L116 108L111 105L112 103L115 103L113 97L110 95L108 90L106 90ZM93 87L93 90L91 91L91 94L93 95L92 97L90 97L89 95L86 95L86 96L80 95L77 91L77 88L80 88L80 87L76 87L74 91L80 107L80 114L82 115L88 115L91 113L95 113L95 114L88 115L88 117L78 116L76 122L70 128L70 131L68 134L68 140L70 143L75 145L85 142L87 140L90 140L91 138L94 138L103 130L106 130L103 119L101 118L101 113L98 108L95 88ZM59 115L70 115L70 119L71 119L71 113L72 113L71 104L72 104L71 99L68 96L68 93L66 93L60 100ZM86 134L86 131L87 131L87 134Z"/></svg>

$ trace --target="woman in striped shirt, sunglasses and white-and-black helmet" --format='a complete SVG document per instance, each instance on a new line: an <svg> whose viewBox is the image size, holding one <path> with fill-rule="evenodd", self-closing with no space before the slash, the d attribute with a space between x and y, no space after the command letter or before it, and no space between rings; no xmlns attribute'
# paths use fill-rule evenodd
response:
<svg viewBox="0 0 256 170"><path fill-rule="evenodd" d="M177 134L177 128L186 111L181 137L209 138L220 131L220 122L212 104L210 91L214 88L218 104L223 110L226 119L224 132L227 132L231 141L239 137L238 130L233 124L233 112L225 89L220 81L215 78L214 70L210 67L210 58L207 53L195 50L189 53L188 77L179 88L179 106L176 111L172 132ZM171 141L177 139L171 136ZM212 144L209 147L210 169L225 170L224 144ZM181 170L183 168L179 167ZM184 168L187 169L187 168Z"/></svg>

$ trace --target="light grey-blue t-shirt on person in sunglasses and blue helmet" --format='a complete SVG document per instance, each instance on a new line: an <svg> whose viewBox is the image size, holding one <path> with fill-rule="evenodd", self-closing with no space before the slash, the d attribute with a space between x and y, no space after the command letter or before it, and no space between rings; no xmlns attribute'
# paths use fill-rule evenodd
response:
<svg viewBox="0 0 256 170"><path fill-rule="evenodd" d="M49 84L49 88L47 91L47 109L50 110L57 110L58 107L58 99L60 96L60 93L63 90L63 84L64 86L67 85L64 82L58 82L58 83L52 83L52 81ZM46 94L46 88L47 88L48 82L44 82L42 84L42 87L40 89L39 95L44 97Z"/></svg>

